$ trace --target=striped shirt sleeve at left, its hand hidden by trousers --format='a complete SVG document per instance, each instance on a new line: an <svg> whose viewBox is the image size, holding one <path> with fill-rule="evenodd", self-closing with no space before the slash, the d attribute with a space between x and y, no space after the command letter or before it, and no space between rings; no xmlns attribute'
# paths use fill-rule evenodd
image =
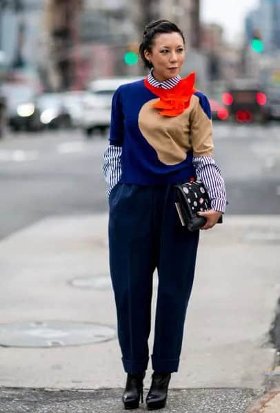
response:
<svg viewBox="0 0 280 413"><path fill-rule="evenodd" d="M107 195L109 197L114 185L121 179L121 146L109 145L103 154L103 175L108 183Z"/></svg>

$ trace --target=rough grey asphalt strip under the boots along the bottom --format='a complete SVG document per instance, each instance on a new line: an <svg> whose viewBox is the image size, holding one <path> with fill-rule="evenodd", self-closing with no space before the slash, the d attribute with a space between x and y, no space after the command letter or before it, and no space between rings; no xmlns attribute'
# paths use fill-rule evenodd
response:
<svg viewBox="0 0 280 413"><path fill-rule="evenodd" d="M123 389L85 391L48 391L3 389L0 407L3 413L120 413ZM252 389L170 390L168 404L161 413L242 413L262 392ZM4 410L2 410L4 409ZM34 410L36 409L36 410ZM140 405L138 412L146 412Z"/></svg>

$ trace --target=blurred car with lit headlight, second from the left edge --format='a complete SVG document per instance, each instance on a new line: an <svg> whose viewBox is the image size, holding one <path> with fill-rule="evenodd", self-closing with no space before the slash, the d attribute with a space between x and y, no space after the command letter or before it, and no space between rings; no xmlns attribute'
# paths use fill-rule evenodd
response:
<svg viewBox="0 0 280 413"><path fill-rule="evenodd" d="M34 103L39 110L42 128L70 128L71 117L63 102L63 94L42 93L36 97Z"/></svg>

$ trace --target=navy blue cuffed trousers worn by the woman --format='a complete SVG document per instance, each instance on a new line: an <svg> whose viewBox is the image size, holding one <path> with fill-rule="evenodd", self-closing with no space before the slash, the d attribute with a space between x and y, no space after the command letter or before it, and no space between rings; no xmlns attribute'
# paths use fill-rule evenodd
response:
<svg viewBox="0 0 280 413"><path fill-rule="evenodd" d="M199 231L183 227L172 185L118 183L109 196L110 274L125 372L148 367L152 276L159 276L152 350L156 372L177 372Z"/></svg>

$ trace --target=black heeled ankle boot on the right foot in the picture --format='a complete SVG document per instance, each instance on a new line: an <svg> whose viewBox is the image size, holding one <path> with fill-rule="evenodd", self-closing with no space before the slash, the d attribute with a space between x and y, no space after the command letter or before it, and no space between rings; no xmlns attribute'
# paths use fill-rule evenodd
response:
<svg viewBox="0 0 280 413"><path fill-rule="evenodd" d="M162 409L166 405L171 373L152 374L152 384L146 397L148 410Z"/></svg>

